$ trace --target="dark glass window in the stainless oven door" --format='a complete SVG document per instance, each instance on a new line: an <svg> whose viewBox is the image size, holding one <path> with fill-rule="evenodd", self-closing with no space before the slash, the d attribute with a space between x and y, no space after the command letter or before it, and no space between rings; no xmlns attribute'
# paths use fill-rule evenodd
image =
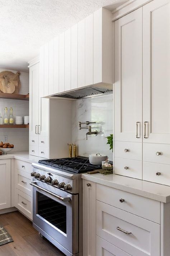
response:
<svg viewBox="0 0 170 256"><path fill-rule="evenodd" d="M37 214L66 234L66 206L37 192Z"/></svg>

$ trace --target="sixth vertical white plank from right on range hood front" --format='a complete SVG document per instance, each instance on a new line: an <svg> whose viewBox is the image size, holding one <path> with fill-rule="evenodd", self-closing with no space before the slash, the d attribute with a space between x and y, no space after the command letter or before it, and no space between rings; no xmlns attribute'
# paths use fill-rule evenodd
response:
<svg viewBox="0 0 170 256"><path fill-rule="evenodd" d="M65 91L65 33L59 35L59 93Z"/></svg>

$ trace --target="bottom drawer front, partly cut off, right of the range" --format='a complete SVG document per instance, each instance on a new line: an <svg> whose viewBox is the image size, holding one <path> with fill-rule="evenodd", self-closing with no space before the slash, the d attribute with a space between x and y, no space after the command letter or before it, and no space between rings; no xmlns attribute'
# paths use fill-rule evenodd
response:
<svg viewBox="0 0 170 256"><path fill-rule="evenodd" d="M105 241L96 235L96 255L97 256L130 256L113 244Z"/></svg>

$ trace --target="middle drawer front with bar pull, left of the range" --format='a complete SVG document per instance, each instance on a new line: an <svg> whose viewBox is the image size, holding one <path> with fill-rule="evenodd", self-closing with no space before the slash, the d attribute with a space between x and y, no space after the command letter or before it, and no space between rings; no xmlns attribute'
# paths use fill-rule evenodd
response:
<svg viewBox="0 0 170 256"><path fill-rule="evenodd" d="M15 170L15 188L32 197L32 186L29 184L32 177L29 173Z"/></svg>

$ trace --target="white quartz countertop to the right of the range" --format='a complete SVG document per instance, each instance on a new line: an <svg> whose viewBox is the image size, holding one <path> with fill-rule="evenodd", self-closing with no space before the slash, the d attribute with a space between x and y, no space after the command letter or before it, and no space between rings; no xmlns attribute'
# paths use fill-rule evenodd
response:
<svg viewBox="0 0 170 256"><path fill-rule="evenodd" d="M82 179L93 181L108 187L120 189L142 197L154 199L156 201L170 202L170 187L149 181L133 179L117 174L81 174Z"/></svg>

